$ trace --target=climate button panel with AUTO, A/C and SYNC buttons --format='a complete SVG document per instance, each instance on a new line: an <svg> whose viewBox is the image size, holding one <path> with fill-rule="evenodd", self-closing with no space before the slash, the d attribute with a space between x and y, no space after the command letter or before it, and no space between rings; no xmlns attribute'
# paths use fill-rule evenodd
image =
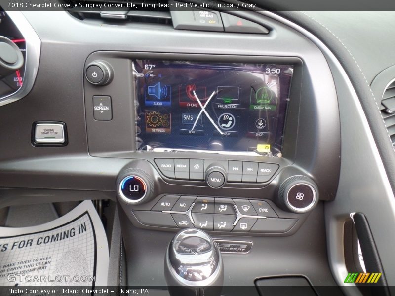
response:
<svg viewBox="0 0 395 296"><path fill-rule="evenodd" d="M279 217L265 200L187 195L164 195L150 211L132 213L147 226L241 233L284 233L298 221Z"/></svg>

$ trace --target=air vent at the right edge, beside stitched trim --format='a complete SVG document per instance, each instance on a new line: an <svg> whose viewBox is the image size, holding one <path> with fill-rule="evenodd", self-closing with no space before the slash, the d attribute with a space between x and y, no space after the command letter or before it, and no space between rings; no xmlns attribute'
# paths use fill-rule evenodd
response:
<svg viewBox="0 0 395 296"><path fill-rule="evenodd" d="M390 134L392 145L395 146L395 81L384 92L380 111Z"/></svg>

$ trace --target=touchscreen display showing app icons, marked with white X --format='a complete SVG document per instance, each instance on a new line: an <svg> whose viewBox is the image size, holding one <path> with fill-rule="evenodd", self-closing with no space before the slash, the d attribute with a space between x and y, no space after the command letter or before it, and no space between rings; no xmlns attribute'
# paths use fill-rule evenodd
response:
<svg viewBox="0 0 395 296"><path fill-rule="evenodd" d="M139 150L281 155L292 65L134 60Z"/></svg>

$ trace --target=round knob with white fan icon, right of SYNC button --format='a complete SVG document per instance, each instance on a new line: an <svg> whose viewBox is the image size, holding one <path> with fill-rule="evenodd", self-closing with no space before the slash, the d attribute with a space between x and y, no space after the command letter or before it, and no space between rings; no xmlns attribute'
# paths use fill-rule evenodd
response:
<svg viewBox="0 0 395 296"><path fill-rule="evenodd" d="M293 176L286 179L278 191L285 207L294 213L306 213L318 202L317 185L305 176Z"/></svg>

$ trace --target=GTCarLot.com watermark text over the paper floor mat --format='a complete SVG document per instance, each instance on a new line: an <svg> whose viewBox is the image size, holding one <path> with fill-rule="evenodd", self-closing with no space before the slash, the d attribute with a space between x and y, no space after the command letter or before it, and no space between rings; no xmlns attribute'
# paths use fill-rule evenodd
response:
<svg viewBox="0 0 395 296"><path fill-rule="evenodd" d="M29 275L29 274L8 274L9 282L18 283L91 283L96 281L91 275Z"/></svg>

